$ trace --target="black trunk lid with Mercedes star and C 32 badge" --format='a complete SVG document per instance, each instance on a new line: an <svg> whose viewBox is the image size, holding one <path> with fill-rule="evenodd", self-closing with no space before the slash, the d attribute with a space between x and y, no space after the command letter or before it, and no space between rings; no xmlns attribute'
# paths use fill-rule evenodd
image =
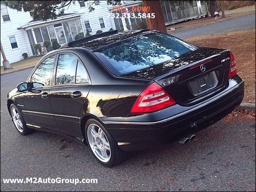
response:
<svg viewBox="0 0 256 192"><path fill-rule="evenodd" d="M200 102L228 84L230 51L198 48L173 60L122 76L153 79L180 105Z"/></svg>

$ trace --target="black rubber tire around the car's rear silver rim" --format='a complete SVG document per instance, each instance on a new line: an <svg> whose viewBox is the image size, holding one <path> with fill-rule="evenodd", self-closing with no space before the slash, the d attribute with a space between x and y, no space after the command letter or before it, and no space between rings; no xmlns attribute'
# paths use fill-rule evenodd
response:
<svg viewBox="0 0 256 192"><path fill-rule="evenodd" d="M90 144L89 144L89 139L88 139L88 134L87 134L87 129L89 127L89 125L91 124L96 124L97 126L99 126L101 128L101 130L103 130L105 136L107 137L107 140L109 142L110 148L111 148L111 156L108 162L102 162L93 152ZM126 156L126 153L121 150L119 148L119 146L117 145L117 141L115 140L115 138L111 135L111 133L105 129L101 123L99 123L97 120L95 119L89 119L86 124L85 124L85 134L86 134L86 141L88 143L88 147L91 151L91 153L93 154L93 156L96 158L96 160L106 166L106 167L113 167L116 166L117 164L121 163Z"/></svg>

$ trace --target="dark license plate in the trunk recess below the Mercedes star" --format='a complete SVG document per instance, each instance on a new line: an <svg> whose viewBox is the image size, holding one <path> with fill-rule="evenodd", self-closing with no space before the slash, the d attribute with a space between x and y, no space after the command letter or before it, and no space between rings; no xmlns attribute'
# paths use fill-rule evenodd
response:
<svg viewBox="0 0 256 192"><path fill-rule="evenodd" d="M192 93L197 96L208 90L215 88L218 84L218 78L216 72L210 72L204 76L200 76L194 80L188 82Z"/></svg>

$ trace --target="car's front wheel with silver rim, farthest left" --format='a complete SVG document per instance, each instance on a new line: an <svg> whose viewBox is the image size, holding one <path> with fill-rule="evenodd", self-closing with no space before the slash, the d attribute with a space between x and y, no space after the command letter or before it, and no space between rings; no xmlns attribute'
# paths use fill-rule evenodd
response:
<svg viewBox="0 0 256 192"><path fill-rule="evenodd" d="M15 104L10 105L10 112L14 126L21 135L28 135L34 132L34 129L30 129L26 126L26 122L22 118L22 115Z"/></svg>

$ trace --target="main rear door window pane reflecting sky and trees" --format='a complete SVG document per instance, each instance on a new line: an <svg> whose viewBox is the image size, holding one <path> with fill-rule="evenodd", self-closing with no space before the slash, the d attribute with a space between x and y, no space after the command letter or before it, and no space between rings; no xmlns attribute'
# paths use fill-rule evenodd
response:
<svg viewBox="0 0 256 192"><path fill-rule="evenodd" d="M56 85L75 83L77 58L71 54L60 54L56 70Z"/></svg>

